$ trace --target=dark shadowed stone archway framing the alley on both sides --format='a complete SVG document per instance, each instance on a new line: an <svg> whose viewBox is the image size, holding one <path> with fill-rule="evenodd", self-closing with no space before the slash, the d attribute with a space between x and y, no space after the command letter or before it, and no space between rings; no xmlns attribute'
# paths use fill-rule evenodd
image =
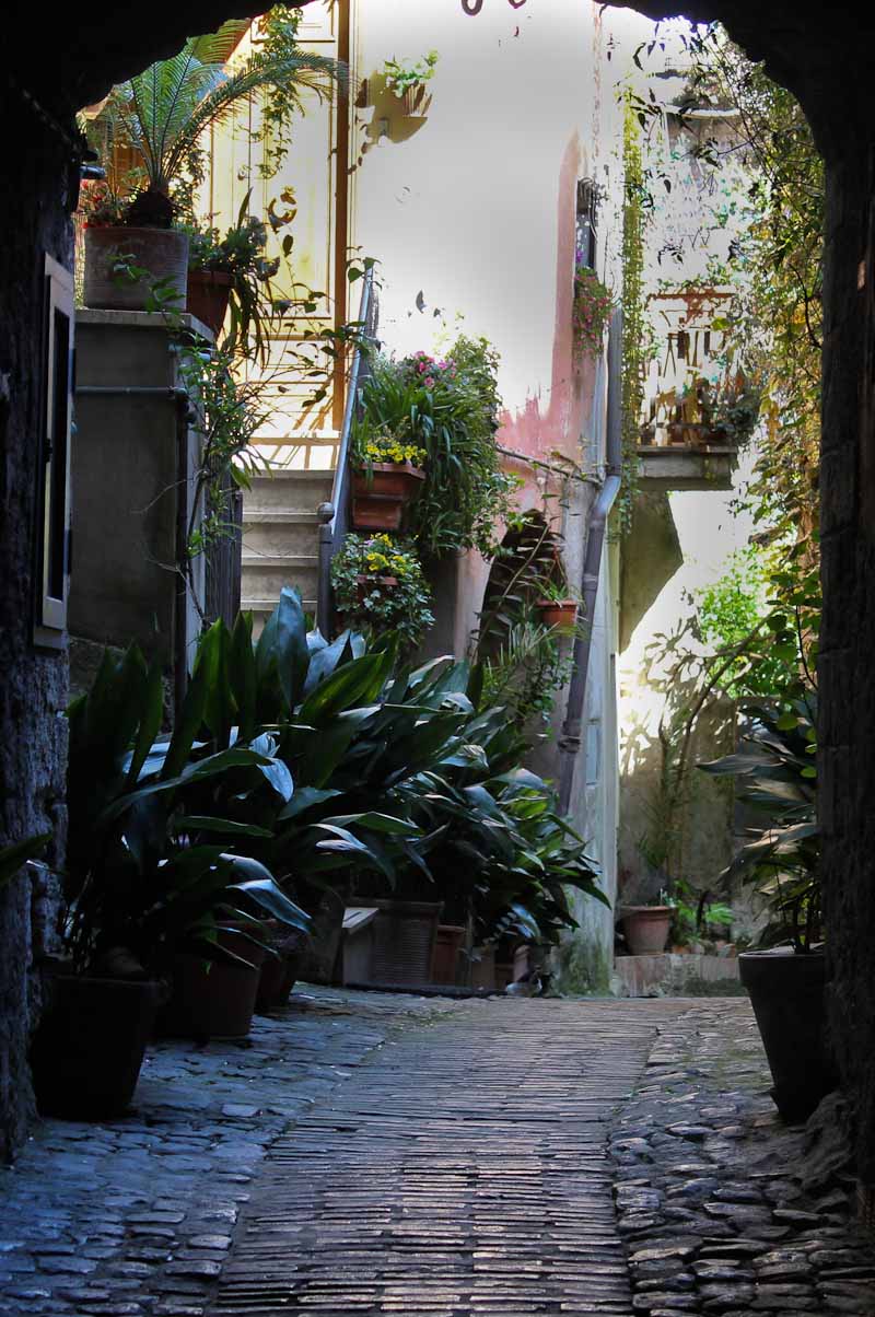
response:
<svg viewBox="0 0 875 1317"><path fill-rule="evenodd" d="M264 7L264 0L153 0L145 11L130 11L92 0L50 17L45 8L22 3L4 14L9 62L0 90L7 175L0 196L0 832L24 835L47 822L61 828L63 823L58 710L66 668L63 656L34 656L28 599L40 261L43 252L70 261L66 216L76 178L71 112L170 54L188 33ZM857 1110L859 1175L875 1185L875 12L859 17L853 5L799 0L692 0L683 7L642 0L638 8L652 18L680 8L691 18L720 18L799 96L828 161L821 822L835 1036ZM26 947L29 928L24 897L18 903L4 898L0 1046L13 1060L0 1076L0 1113L9 1146L20 1142L29 1114L22 1079L29 989L21 956L8 955L8 948Z"/></svg>

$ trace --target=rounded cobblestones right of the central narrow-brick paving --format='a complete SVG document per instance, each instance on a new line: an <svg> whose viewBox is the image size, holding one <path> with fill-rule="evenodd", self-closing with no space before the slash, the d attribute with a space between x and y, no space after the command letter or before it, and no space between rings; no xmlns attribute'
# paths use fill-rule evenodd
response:
<svg viewBox="0 0 875 1317"><path fill-rule="evenodd" d="M787 1129L746 1000L667 1022L611 1135L635 1312L875 1317L837 1098Z"/></svg>

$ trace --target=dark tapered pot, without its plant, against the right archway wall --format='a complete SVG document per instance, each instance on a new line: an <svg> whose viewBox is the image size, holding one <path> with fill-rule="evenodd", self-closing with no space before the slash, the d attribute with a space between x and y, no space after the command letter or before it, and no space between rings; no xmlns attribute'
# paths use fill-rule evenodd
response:
<svg viewBox="0 0 875 1317"><path fill-rule="evenodd" d="M826 1039L826 959L822 952L745 951L741 980L750 993L785 1121L805 1121L838 1083Z"/></svg>

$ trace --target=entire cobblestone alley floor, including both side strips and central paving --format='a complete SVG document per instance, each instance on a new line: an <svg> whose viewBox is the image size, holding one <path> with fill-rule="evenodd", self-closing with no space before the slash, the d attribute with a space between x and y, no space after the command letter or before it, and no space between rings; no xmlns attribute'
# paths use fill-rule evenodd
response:
<svg viewBox="0 0 875 1317"><path fill-rule="evenodd" d="M738 998L307 989L158 1046L129 1118L37 1127L0 1312L875 1314L832 1117L767 1083Z"/></svg>

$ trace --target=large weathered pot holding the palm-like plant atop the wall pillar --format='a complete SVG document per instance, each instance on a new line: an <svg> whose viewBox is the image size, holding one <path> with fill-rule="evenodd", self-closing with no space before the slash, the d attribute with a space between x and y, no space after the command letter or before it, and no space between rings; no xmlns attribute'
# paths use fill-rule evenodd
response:
<svg viewBox="0 0 875 1317"><path fill-rule="evenodd" d="M84 303L98 311L145 311L152 284L173 288L174 311L186 309L188 234L177 229L138 229L125 225L88 227L86 233ZM113 278L120 255L130 257L148 275L130 283Z"/></svg>

